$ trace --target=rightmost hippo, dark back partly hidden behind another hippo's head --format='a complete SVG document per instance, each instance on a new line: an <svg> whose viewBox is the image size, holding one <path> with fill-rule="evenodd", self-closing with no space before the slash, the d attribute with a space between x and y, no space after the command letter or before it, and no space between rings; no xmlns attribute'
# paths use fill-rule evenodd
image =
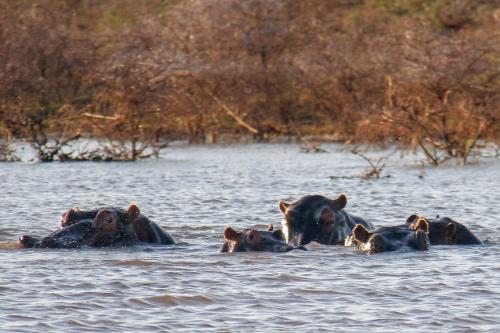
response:
<svg viewBox="0 0 500 333"><path fill-rule="evenodd" d="M449 217L428 219L418 215L411 215L406 224L413 226L419 219L429 224L429 241L431 245L477 245L482 242L463 224Z"/></svg>

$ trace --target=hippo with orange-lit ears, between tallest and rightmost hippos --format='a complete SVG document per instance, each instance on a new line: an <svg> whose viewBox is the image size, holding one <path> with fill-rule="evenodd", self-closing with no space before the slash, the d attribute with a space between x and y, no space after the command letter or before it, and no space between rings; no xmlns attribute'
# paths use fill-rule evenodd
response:
<svg viewBox="0 0 500 333"><path fill-rule="evenodd" d="M357 224L352 230L353 243L358 249L369 254L396 251L401 248L425 251L429 249L429 224L419 219L413 226L399 225L382 227L368 231Z"/></svg>

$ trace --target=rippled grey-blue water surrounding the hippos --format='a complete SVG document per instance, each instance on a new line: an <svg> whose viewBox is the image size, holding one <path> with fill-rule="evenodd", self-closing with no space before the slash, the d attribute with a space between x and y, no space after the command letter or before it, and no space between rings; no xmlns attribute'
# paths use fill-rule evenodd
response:
<svg viewBox="0 0 500 333"><path fill-rule="evenodd" d="M329 179L357 156L293 145L191 146L136 163L0 164L0 330L15 332L500 332L500 160L426 169L393 156L391 178ZM412 213L463 222L483 246L362 255L352 248L219 254L225 226L281 220L278 201L347 193L376 225ZM176 246L16 249L67 208L136 201Z"/></svg>

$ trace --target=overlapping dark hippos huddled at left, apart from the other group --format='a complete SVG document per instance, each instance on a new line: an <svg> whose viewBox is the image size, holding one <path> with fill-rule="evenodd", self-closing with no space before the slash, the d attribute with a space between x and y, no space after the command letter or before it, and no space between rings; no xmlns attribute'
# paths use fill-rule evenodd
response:
<svg viewBox="0 0 500 333"><path fill-rule="evenodd" d="M92 211L69 209L62 216L62 228L42 239L22 236L24 247L76 248L82 246L127 246L140 242L174 244L174 239L131 204L127 210L103 208Z"/></svg>

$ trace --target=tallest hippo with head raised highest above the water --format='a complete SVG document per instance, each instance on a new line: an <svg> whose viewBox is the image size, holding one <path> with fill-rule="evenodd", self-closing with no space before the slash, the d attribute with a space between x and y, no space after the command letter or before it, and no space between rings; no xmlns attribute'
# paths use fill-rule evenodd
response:
<svg viewBox="0 0 500 333"><path fill-rule="evenodd" d="M347 197L344 194L336 199L306 195L293 203L280 201L285 241L291 245L305 245L312 241L344 245L356 224L373 229L370 222L347 213L344 210L346 204Z"/></svg>

